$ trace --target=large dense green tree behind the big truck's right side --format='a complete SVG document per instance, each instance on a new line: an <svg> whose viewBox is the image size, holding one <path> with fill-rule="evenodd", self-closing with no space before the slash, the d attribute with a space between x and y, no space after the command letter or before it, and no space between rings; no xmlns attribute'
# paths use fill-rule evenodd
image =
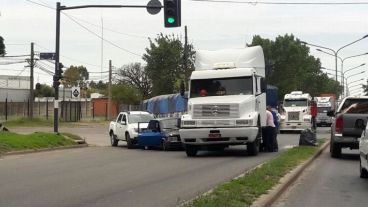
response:
<svg viewBox="0 0 368 207"><path fill-rule="evenodd" d="M321 71L320 60L309 55L309 47L293 35L278 36L275 41L256 35L251 45L262 46L266 63L272 64L271 71L266 71L266 80L279 88L279 98L295 90L312 96L341 93L339 83Z"/></svg>

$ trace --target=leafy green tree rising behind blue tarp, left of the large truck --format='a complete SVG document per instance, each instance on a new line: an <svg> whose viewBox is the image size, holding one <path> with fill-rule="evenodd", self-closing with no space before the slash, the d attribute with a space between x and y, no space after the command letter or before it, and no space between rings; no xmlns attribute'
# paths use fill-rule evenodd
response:
<svg viewBox="0 0 368 207"><path fill-rule="evenodd" d="M154 41L149 41L150 46L146 48L143 60L147 63L146 72L152 81L152 95L178 92L180 80L187 82L194 70L193 46L188 45L185 50L177 37L162 33Z"/></svg>

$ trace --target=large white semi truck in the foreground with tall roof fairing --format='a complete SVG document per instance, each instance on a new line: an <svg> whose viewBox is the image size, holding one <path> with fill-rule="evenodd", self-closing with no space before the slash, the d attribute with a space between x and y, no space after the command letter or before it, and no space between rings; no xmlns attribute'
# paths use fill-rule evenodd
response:
<svg viewBox="0 0 368 207"><path fill-rule="evenodd" d="M249 154L258 154L266 125L264 77L260 46L196 52L188 112L179 130L187 156L243 144Z"/></svg>

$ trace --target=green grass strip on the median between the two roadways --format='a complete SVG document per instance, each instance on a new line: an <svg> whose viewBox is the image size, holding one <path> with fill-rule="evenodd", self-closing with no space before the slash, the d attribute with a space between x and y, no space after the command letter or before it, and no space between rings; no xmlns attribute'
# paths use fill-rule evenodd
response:
<svg viewBox="0 0 368 207"><path fill-rule="evenodd" d="M325 140L319 140L321 146ZM260 195L278 184L280 178L303 161L312 157L318 147L300 146L281 153L243 177L216 187L210 194L200 196L186 207L250 206Z"/></svg>

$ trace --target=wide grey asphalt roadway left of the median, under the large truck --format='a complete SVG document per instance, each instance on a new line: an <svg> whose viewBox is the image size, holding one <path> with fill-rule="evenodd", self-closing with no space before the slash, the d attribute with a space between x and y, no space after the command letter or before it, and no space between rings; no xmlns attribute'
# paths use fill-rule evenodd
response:
<svg viewBox="0 0 368 207"><path fill-rule="evenodd" d="M280 151L298 141L298 134L279 135ZM0 158L0 206L176 206L278 153L251 157L239 146L188 158L121 145L7 156Z"/></svg>

